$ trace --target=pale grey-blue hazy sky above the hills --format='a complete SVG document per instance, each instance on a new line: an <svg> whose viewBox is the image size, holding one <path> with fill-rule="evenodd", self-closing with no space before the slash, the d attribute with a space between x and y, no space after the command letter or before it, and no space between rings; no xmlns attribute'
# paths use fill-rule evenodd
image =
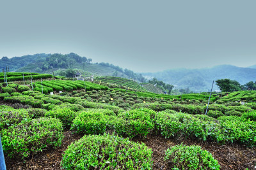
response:
<svg viewBox="0 0 256 170"><path fill-rule="evenodd" d="M70 53L138 72L256 64L256 1L0 1L0 58Z"/></svg>

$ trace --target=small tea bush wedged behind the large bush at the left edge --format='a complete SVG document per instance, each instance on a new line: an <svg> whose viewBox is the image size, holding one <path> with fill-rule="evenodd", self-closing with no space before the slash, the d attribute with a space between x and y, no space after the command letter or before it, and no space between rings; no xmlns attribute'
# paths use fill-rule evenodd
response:
<svg viewBox="0 0 256 170"><path fill-rule="evenodd" d="M70 127L72 124L72 121L76 117L76 112L72 111L68 108L54 108L50 111L47 111L45 113L45 117L54 117L60 119L60 121L63 124L63 127Z"/></svg>

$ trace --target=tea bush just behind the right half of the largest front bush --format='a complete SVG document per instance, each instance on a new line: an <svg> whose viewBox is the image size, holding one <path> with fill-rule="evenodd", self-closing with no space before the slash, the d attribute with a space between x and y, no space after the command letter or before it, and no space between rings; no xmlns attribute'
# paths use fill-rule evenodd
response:
<svg viewBox="0 0 256 170"><path fill-rule="evenodd" d="M118 114L115 131L122 136L147 136L154 129L156 111L146 108L125 111Z"/></svg>

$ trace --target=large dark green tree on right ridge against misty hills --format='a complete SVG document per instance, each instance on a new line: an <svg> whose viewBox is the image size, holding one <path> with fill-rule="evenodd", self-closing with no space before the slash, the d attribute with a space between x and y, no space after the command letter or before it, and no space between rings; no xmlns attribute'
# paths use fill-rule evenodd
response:
<svg viewBox="0 0 256 170"><path fill-rule="evenodd" d="M233 92L242 90L243 86L236 80L220 79L216 81L216 84L222 92Z"/></svg>

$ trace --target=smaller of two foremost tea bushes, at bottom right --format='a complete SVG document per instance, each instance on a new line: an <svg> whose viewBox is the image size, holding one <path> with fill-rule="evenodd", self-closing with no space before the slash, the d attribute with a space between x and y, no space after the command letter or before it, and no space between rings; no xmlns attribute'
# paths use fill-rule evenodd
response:
<svg viewBox="0 0 256 170"><path fill-rule="evenodd" d="M220 169L212 154L200 146L172 146L166 150L165 155L164 160L168 161L169 169Z"/></svg>

